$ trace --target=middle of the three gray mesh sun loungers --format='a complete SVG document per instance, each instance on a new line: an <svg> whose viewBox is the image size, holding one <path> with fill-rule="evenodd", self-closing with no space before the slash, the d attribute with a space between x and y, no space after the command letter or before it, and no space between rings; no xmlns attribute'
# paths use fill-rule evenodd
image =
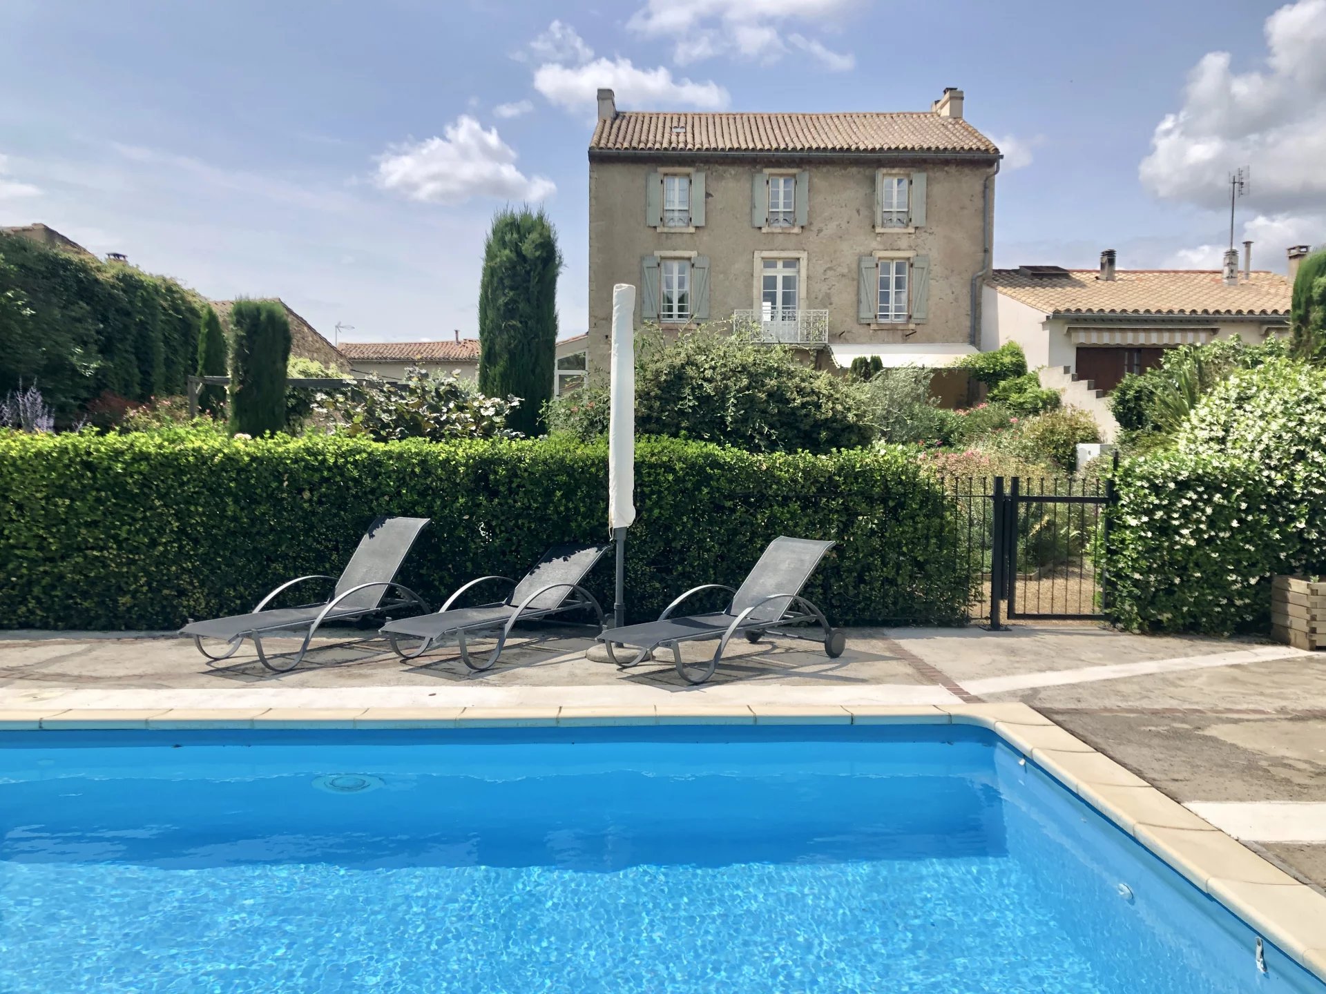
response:
<svg viewBox="0 0 1326 994"><path fill-rule="evenodd" d="M530 567L520 583L514 584L505 600L479 607L452 608L451 604L469 587L485 580L505 580L503 577L481 577L447 598L442 611L390 622L382 627L382 634L391 639L391 647L402 659L416 659L427 652L438 639L456 635L461 661L471 669L488 669L501 656L507 636L517 620L534 620L564 611L591 608L599 628L602 628L603 610L593 595L581 587L581 583L611 547L610 545L554 545ZM505 582L511 583L512 580ZM497 647L484 661L472 660L465 644L465 634L497 630L500 630ZM418 647L407 651L400 645L403 636L422 641Z"/></svg>

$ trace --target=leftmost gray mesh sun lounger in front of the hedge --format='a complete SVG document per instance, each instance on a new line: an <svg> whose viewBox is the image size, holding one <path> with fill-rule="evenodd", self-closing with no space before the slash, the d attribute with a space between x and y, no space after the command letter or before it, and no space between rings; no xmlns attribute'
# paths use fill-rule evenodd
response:
<svg viewBox="0 0 1326 994"><path fill-rule="evenodd" d="M286 587L293 587L305 579L326 579L301 577L273 590L249 614L191 622L179 630L180 635L192 636L199 652L213 660L228 659L235 655L245 637L252 639L263 664L268 669L285 672L297 667L304 659L304 653L308 652L309 643L313 640L313 632L320 624L377 614L383 607L383 599L389 591L396 591L398 595L396 602L391 604L392 607L412 602L420 610L427 611L428 608L418 594L395 582L400 563L404 562L415 539L419 538L419 533L427 525L428 518L374 518L363 538L359 539L350 562L341 573L329 600L301 607L264 610L268 602ZM289 656L268 657L263 652L263 635L300 630L308 631L304 645L294 653L293 660ZM220 639L231 643L231 647L223 655L213 655L203 648L203 639Z"/></svg>

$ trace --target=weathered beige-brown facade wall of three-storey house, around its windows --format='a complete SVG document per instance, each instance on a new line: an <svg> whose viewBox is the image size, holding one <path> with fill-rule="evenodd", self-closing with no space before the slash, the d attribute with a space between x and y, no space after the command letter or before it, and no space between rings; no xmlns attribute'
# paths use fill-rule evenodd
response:
<svg viewBox="0 0 1326 994"><path fill-rule="evenodd" d="M690 121L709 115L686 115ZM715 115L741 117L741 115ZM928 117L928 115L916 115ZM602 130L602 129L601 129ZM993 146L991 146L993 148ZM705 266L707 309L691 323L729 321L733 311L761 307L765 258L798 264L798 309L827 311L825 346L806 353L821 368L833 367L831 346L906 343L972 343L973 286L988 265L993 229L991 154L879 151L869 154L798 154L796 151L595 151L589 160L589 364L594 374L607 366L614 284L642 288L635 321L646 317L646 272L655 260L692 257ZM651 224L651 184L670 170L703 174L703 224L679 231ZM882 228L876 224L876 183L880 174L903 176L924 197L923 223ZM776 231L756 225L764 175L797 175L798 221ZM692 179L692 186L699 183ZM984 209L984 213L983 213ZM692 207L692 213L695 208ZM902 322L863 318L863 257L915 260L928 270L922 288L918 270L910 293L923 290L924 313ZM658 278L658 277L652 277ZM871 277L874 278L874 277ZM973 282L976 281L976 282ZM914 300L915 305L916 301ZM976 298L979 306L979 297ZM684 327L686 325L671 325ZM664 327L670 327L664 323Z"/></svg>

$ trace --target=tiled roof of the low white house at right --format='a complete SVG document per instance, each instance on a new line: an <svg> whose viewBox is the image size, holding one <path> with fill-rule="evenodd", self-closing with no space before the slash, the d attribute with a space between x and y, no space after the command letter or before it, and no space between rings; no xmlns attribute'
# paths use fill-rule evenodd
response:
<svg viewBox="0 0 1326 994"><path fill-rule="evenodd" d="M1254 272L1248 282L1225 286L1212 269L1119 269L1101 280L1097 269L1026 276L996 269L991 285L1046 314L1268 314L1289 313L1289 280Z"/></svg>

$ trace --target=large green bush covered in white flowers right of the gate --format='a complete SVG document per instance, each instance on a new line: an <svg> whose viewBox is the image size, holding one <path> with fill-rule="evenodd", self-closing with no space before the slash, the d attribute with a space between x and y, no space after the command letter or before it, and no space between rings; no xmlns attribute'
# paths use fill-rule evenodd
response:
<svg viewBox="0 0 1326 994"><path fill-rule="evenodd" d="M1265 628L1270 577L1326 569L1326 372L1235 372L1130 460L1110 510L1109 611L1140 631Z"/></svg>

